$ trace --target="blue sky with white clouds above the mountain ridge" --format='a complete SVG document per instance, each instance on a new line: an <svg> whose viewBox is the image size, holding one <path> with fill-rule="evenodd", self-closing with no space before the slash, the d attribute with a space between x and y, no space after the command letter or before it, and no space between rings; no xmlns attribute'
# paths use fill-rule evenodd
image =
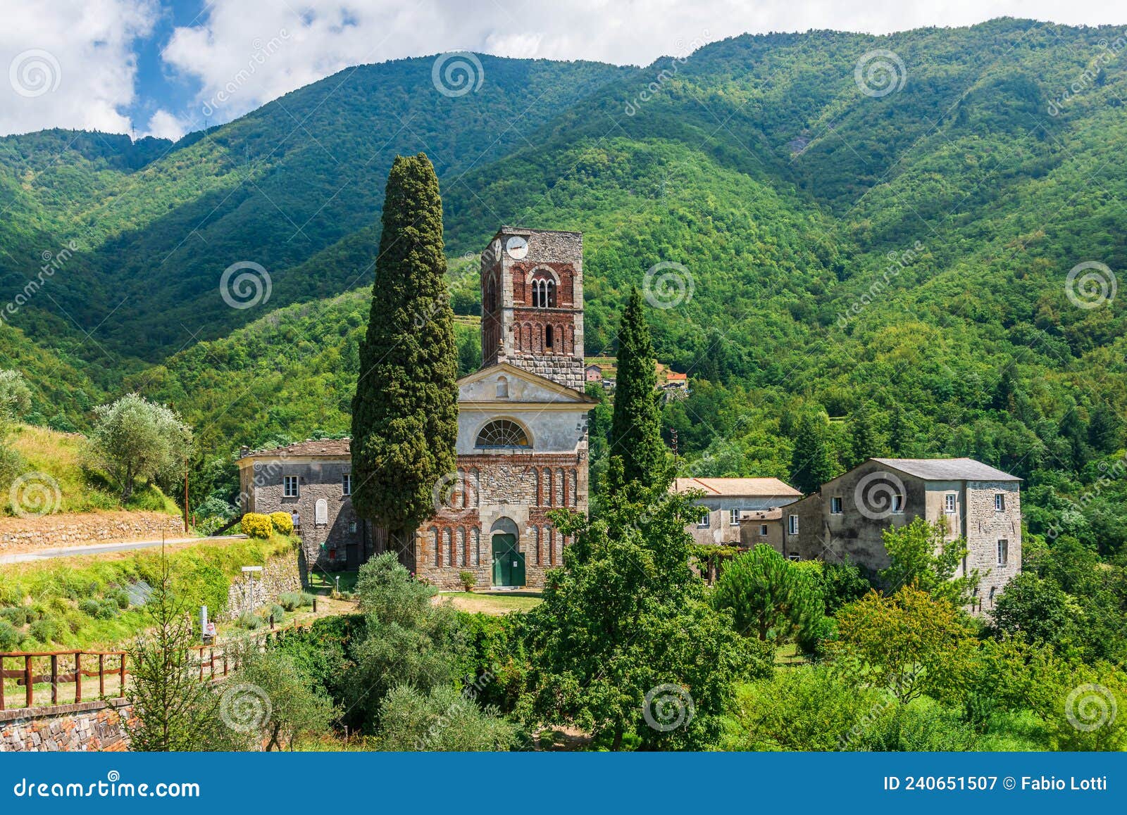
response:
<svg viewBox="0 0 1127 815"><path fill-rule="evenodd" d="M0 0L0 135L176 138L349 65L469 50L648 64L743 33L1001 16L1127 24L1108 0ZM1127 25L1124 26L1127 28Z"/></svg>

